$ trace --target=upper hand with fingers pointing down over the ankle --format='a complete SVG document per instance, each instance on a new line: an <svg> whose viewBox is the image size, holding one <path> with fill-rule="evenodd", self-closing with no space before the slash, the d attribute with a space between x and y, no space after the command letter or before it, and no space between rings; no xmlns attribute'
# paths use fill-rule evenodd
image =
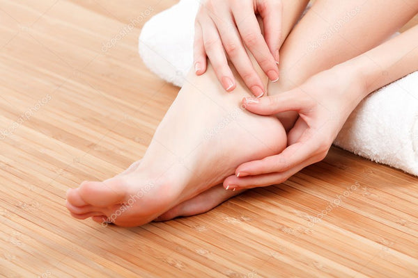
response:
<svg viewBox="0 0 418 278"><path fill-rule="evenodd" d="M194 69L206 72L208 56L217 79L226 91L235 88L235 78L226 55L256 96L264 85L254 70L245 47L272 81L279 79L281 46L281 0L205 0L195 22ZM264 36L256 14L263 19ZM277 61L277 63L276 63Z"/></svg>

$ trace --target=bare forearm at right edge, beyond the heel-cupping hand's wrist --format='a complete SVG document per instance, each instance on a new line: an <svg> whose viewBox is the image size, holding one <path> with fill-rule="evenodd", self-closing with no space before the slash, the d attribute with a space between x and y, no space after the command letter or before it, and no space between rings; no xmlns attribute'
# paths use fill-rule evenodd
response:
<svg viewBox="0 0 418 278"><path fill-rule="evenodd" d="M337 66L339 67L339 66ZM418 26L357 56L341 67L364 84L359 97L418 70Z"/></svg>

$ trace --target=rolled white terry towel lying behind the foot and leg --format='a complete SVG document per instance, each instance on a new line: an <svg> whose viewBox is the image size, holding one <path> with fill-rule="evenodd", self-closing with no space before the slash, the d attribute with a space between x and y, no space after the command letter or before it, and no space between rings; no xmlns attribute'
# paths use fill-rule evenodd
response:
<svg viewBox="0 0 418 278"><path fill-rule="evenodd" d="M151 71L182 86L193 63L199 1L181 0L151 18L139 54ZM334 145L418 176L418 72L366 97L348 117Z"/></svg>

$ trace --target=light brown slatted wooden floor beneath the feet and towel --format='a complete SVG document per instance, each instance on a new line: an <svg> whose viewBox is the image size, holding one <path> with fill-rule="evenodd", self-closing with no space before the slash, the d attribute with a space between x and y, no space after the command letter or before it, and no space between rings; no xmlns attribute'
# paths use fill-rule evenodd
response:
<svg viewBox="0 0 418 278"><path fill-rule="evenodd" d="M176 97L137 55L175 2L0 0L0 275L417 277L418 179L336 148L203 215L70 217L65 191L141 158Z"/></svg>

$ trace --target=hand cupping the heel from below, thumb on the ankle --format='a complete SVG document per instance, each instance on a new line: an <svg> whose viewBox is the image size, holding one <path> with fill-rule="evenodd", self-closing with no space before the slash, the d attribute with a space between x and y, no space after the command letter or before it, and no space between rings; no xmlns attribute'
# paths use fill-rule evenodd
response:
<svg viewBox="0 0 418 278"><path fill-rule="evenodd" d="M366 94L357 74L334 67L305 83L272 97L245 98L247 111L275 115L296 111L300 117L288 133L288 147L281 154L243 163L224 188L238 190L286 181L304 167L323 160L350 113Z"/></svg>

